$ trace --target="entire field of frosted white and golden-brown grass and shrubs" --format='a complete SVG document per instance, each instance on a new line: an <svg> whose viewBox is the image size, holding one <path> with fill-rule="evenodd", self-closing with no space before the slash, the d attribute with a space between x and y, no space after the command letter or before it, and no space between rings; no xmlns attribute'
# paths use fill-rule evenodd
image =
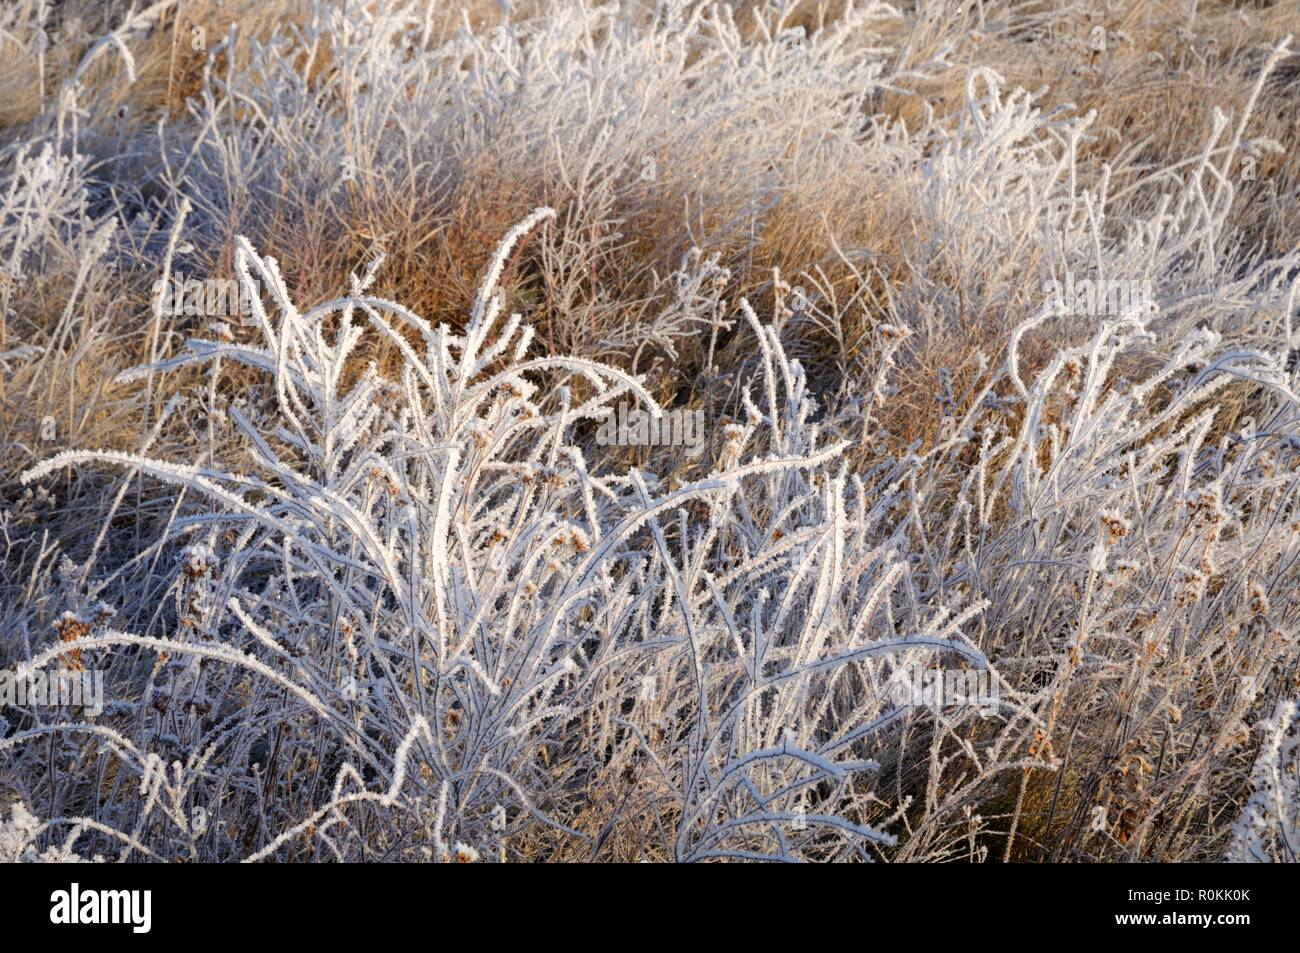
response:
<svg viewBox="0 0 1300 953"><path fill-rule="evenodd" d="M0 859L1296 859L1300 65L1210 7L6 8L0 668L107 706L0 709Z"/></svg>

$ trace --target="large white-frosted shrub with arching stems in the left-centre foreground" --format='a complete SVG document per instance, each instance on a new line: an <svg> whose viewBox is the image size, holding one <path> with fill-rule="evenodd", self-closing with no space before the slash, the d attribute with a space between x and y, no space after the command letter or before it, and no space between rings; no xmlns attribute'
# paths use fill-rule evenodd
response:
<svg viewBox="0 0 1300 953"><path fill-rule="evenodd" d="M907 624L884 612L906 563L868 536L879 502L872 517L861 481L836 471L844 445L819 436L802 369L753 312L763 395L746 398L734 436L750 454L677 488L589 471L569 441L576 424L621 395L658 408L612 367L529 358L532 329L500 313L506 257L549 217L538 211L507 237L463 335L367 295L380 261L348 296L299 312L276 263L243 244L246 287L256 274L273 299L272 313L255 299L263 346L191 341L165 367L225 359L273 377L274 416L229 408L254 468L68 451L25 475L117 463L216 507L170 530L198 541L181 553L176 637L105 628L29 663L159 653L142 711L183 707L165 741L191 763L173 780L143 757L143 787L153 776L151 797L177 802L177 829L155 852L186 836L237 852L225 831L240 807L200 764L238 763L259 735L337 780L256 857L302 849L304 835L308 850L318 837L358 857L343 811L354 801L393 807L385 823L417 824L417 844L438 855L534 823L594 852L598 832L578 827L572 792L619 772L659 811L672 807L663 849L679 859L893 842L861 807L802 806L816 785L831 793L815 802L853 801L872 768L859 751L881 699L837 698L837 686L872 659L920 649L984 666L959 634L979 607L918 611ZM396 380L373 365L347 373L367 334L403 355ZM571 385L534 382L556 376ZM231 719L211 737L212 722ZM651 777L640 776L644 759ZM363 790L363 771L382 794ZM207 805L207 833L186 824L182 792ZM788 833L796 819L816 833Z"/></svg>

